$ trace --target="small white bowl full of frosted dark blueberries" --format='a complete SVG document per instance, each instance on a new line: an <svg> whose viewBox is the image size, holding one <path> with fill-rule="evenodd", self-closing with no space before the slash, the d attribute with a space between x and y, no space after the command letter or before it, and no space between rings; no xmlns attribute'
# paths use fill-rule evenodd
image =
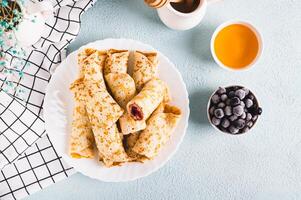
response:
<svg viewBox="0 0 301 200"><path fill-rule="evenodd" d="M210 124L232 135L248 132L261 113L262 108L255 95L242 86L219 87L211 95L207 106Z"/></svg>

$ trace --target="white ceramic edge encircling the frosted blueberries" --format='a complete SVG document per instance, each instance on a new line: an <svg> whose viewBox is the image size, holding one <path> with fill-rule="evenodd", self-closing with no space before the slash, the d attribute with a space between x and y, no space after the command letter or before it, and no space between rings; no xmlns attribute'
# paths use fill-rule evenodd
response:
<svg viewBox="0 0 301 200"><path fill-rule="evenodd" d="M221 86L223 88L229 88L229 87L243 87L243 88L247 88L247 87L244 87L244 86L241 86L241 85L227 85L227 86ZM250 128L249 131L245 132L245 133L239 133L239 134L231 134L231 133L227 133L227 132L223 132L222 130L219 130L214 124L212 124L211 122L211 119L210 119L210 113L209 113L209 109L210 109L210 103L211 103L211 98L212 96L218 91L219 88L217 88L216 90L214 90L214 92L212 92L212 94L210 95L209 97L209 100L208 100L208 103L207 103L207 119L210 123L210 125L215 129L217 130L218 132L220 133L223 133L223 134L227 134L227 135L233 135L233 136L240 136L240 135L245 135L245 134L248 134L249 132L251 132L254 128L255 128L255 125L257 124L257 121L258 121L258 118L256 119L256 121L254 122L253 126ZM249 89L249 88L248 88ZM250 90L250 89L249 89ZM254 94L254 92L252 90L250 90L255 98L255 100L257 101L258 103L258 107L260 107L260 103L256 97L256 95Z"/></svg>

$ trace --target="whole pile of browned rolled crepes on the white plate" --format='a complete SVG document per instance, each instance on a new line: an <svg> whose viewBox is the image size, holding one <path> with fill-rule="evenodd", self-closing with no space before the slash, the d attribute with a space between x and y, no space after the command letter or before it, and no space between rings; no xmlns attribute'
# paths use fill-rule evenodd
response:
<svg viewBox="0 0 301 200"><path fill-rule="evenodd" d="M167 142L181 112L168 105L168 86L157 78L157 53L136 51L134 57L131 76L128 50L78 54L80 73L70 87L71 157L93 158L95 145L99 160L110 167L153 159Z"/></svg>

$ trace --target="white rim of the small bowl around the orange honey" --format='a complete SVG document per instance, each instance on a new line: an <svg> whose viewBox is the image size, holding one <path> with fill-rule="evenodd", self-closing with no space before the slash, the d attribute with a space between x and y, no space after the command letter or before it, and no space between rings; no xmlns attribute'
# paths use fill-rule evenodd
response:
<svg viewBox="0 0 301 200"><path fill-rule="evenodd" d="M224 65L216 56L215 54L215 50L214 50L214 42L215 42L215 39L216 39L216 36L217 34L225 27L229 26L229 25L232 25L232 24L241 24L241 25L244 25L244 26L247 26L248 28L250 28L256 35L256 38L258 40L258 45L259 45L259 48L258 48L258 52L257 52L257 55L256 57L254 58L254 60L247 66L243 67L243 68L239 68L239 69L234 69L234 68L231 68L231 67L228 67L226 65ZM224 69L227 69L229 71L244 71L244 70L247 70L247 69L250 69L252 66L254 66L254 64L257 62L257 60L259 59L259 57L261 56L262 52L263 52L263 39L262 39L262 35L259 33L259 31L250 23L250 22L247 22L247 21L240 21L240 20L230 20L230 21L227 21L227 22L224 22L222 23L221 25L219 25L212 37L211 37L211 41L210 41L210 50L211 50L211 55L212 57L214 58L215 62L222 68Z"/></svg>

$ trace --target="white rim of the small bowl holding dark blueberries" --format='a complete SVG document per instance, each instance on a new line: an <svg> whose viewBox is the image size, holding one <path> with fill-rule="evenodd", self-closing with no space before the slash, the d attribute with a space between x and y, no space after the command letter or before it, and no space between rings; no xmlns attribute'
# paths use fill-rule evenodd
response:
<svg viewBox="0 0 301 200"><path fill-rule="evenodd" d="M223 86L221 86L221 87L223 87ZM241 86L241 85L230 85L230 86L225 86L225 87L223 87L223 88L227 89L227 88L230 88L230 87L242 87L242 88L246 88L246 87ZM229 135L244 135L244 134L250 132L250 131L255 127L255 125L256 125L256 123L257 123L257 121L258 121L258 117L259 117L260 115L257 116L257 119L254 121L254 124L253 124L253 126L249 129L249 131L247 131L247 132L245 132L245 133L231 134L231 133L228 133L228 132L224 132L224 131L220 130L217 126L215 126L215 125L211 122L210 113L209 113L211 98L212 98L213 95L216 94L216 92L218 91L218 89L219 89L219 88L217 88L217 89L211 94L211 96L209 97L209 100L208 100L208 104L207 104L207 118L208 118L208 121L209 121L209 123L211 124L211 126L212 126L215 130L217 130L218 132L226 133L226 134L229 134ZM247 88L247 89L249 89L249 88ZM251 94L253 94L254 100L257 102L258 107L260 107L259 101L258 101L258 99L256 98L255 94L254 94L250 89L249 89L249 91L251 92Z"/></svg>

